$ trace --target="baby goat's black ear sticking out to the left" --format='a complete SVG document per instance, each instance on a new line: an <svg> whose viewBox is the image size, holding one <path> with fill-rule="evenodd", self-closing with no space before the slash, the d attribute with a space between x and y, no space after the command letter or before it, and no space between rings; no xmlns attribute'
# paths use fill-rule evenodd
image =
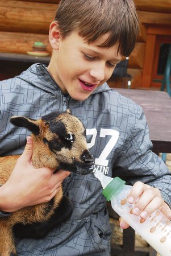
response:
<svg viewBox="0 0 171 256"><path fill-rule="evenodd" d="M34 119L27 117L11 117L10 122L12 125L27 128L35 135L39 135L40 133L39 126L36 124L36 120Z"/></svg>

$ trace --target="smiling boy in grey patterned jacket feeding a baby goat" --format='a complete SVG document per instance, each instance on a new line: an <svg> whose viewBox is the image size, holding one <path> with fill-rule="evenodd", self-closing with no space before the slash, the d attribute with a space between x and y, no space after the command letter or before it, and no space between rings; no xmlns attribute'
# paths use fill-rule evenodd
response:
<svg viewBox="0 0 171 256"><path fill-rule="evenodd" d="M160 208L171 218L170 172L151 151L143 111L106 84L116 64L130 55L138 31L132 0L62 0L49 29L53 52L48 67L34 64L1 82L1 155L20 154L24 146L26 131L14 130L11 115L36 119L70 108L86 127L94 170L134 184L128 197L130 203L139 198L134 214L146 218ZM51 200L62 180L74 210L44 239L17 238L18 255L110 255L106 200L94 174L37 170L31 155L27 137L10 179L0 188L1 215ZM120 225L128 226L123 220Z"/></svg>

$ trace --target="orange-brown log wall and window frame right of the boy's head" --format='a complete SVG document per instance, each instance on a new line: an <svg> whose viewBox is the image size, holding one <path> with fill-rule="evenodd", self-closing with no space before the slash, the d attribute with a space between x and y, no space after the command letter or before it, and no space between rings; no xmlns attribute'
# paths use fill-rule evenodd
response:
<svg viewBox="0 0 171 256"><path fill-rule="evenodd" d="M171 37L170 0L134 0L140 20L140 36L130 55L128 73L132 76L131 88L159 89L153 85L153 66L156 65L157 36ZM171 40L170 40L171 43Z"/></svg>

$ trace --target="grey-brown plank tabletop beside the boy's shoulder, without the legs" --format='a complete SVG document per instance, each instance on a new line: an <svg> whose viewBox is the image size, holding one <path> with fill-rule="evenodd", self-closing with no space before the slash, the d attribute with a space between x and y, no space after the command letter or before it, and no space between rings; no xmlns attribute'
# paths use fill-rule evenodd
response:
<svg viewBox="0 0 171 256"><path fill-rule="evenodd" d="M114 88L123 96L139 104L145 113L153 151L171 152L171 98L159 90L134 90Z"/></svg>

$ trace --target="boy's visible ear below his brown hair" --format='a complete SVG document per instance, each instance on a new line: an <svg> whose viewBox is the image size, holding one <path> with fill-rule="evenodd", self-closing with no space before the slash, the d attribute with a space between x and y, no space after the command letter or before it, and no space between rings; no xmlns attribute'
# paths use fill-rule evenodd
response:
<svg viewBox="0 0 171 256"><path fill-rule="evenodd" d="M59 49L60 38L59 26L56 21L53 21L49 27L49 43L52 49Z"/></svg>

